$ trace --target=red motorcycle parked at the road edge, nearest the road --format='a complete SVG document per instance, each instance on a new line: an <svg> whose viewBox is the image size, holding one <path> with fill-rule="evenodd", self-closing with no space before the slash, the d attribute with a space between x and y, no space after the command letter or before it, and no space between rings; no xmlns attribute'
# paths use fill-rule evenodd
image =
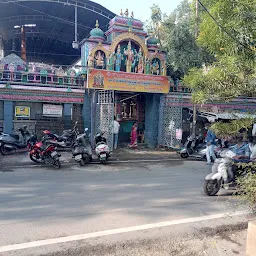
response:
<svg viewBox="0 0 256 256"><path fill-rule="evenodd" d="M48 163L60 169L61 164L59 157L61 155L57 152L57 143L51 141L47 144L44 141L35 143L29 152L30 159L35 163Z"/></svg>

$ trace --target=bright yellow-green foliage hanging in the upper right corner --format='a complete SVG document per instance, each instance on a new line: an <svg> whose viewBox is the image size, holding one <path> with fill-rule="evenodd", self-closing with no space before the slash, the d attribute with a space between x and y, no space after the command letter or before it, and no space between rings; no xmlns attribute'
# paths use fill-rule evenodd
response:
<svg viewBox="0 0 256 256"><path fill-rule="evenodd" d="M256 94L256 0L204 0L201 7L199 45L215 54L216 61L191 69L185 84L196 103L229 101ZM212 16L210 16L210 15Z"/></svg>

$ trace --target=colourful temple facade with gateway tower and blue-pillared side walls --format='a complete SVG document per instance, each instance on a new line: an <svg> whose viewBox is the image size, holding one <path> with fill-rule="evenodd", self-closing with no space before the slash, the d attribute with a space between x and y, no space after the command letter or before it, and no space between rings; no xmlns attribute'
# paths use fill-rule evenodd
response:
<svg viewBox="0 0 256 256"><path fill-rule="evenodd" d="M0 131L28 125L39 137L44 129L61 133L78 121L93 136L105 132L113 143L113 120L127 145L134 122L138 139L149 147L180 145L191 131L191 92L166 76L166 53L158 39L128 11L114 17L104 32L96 27L81 44L81 66L68 68L25 63L15 54L0 61ZM207 118L254 112L256 99L197 106L197 133Z"/></svg>

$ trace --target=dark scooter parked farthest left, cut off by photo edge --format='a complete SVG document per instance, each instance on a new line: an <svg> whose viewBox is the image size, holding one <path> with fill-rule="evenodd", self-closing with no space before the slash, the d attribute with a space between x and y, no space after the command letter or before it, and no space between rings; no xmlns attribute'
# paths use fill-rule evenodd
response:
<svg viewBox="0 0 256 256"><path fill-rule="evenodd" d="M22 135L22 140L18 134L6 134L0 135L0 152L2 155L8 155L12 151L25 149L30 147L32 141L30 141L31 134L27 129L27 126L23 126L18 130Z"/></svg>

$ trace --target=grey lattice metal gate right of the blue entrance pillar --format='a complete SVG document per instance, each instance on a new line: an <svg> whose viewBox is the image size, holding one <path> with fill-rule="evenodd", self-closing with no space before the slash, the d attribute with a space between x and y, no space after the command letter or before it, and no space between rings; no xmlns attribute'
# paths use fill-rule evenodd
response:
<svg viewBox="0 0 256 256"><path fill-rule="evenodd" d="M182 129L182 107L179 106L182 99L162 96L159 111L158 144L167 147L176 147L181 139L177 138L177 132Z"/></svg>

